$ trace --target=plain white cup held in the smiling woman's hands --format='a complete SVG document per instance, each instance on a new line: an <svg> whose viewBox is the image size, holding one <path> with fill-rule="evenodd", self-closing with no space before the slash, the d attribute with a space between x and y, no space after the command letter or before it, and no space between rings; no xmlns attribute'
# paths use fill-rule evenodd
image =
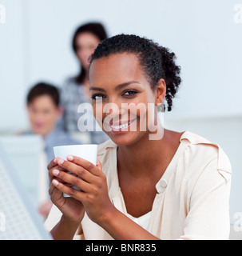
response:
<svg viewBox="0 0 242 256"><path fill-rule="evenodd" d="M65 161L67 156L73 155L79 158L83 158L96 166L97 164L97 144L83 144L83 145L68 145L68 146L54 146L54 156L56 158L62 158ZM79 190L73 186L73 189ZM64 197L69 195L64 194Z"/></svg>

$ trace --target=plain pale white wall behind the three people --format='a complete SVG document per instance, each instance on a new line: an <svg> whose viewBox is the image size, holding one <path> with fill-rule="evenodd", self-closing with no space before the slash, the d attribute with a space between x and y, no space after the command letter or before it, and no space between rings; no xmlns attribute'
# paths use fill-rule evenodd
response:
<svg viewBox="0 0 242 256"><path fill-rule="evenodd" d="M0 131L26 128L25 97L44 80L61 86L76 74L71 50L75 28L103 22L110 36L133 33L152 38L177 54L183 83L167 118L224 143L234 162L232 212L242 211L240 141L242 114L242 0L0 0ZM227 122L232 115L234 121ZM216 119L219 116L220 119ZM210 117L210 119L209 119ZM209 120L207 120L208 118ZM217 120L217 122L215 122ZM202 125L209 124L208 126ZM228 132L218 130L224 126ZM240 125L239 125L240 123ZM197 125L200 124L200 125ZM209 127L209 129L208 129ZM227 140L229 134L229 140ZM225 142L226 141L226 142Z"/></svg>

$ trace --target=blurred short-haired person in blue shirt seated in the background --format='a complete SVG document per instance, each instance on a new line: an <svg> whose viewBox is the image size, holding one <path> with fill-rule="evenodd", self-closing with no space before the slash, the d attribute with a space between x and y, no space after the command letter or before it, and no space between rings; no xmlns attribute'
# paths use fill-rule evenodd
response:
<svg viewBox="0 0 242 256"><path fill-rule="evenodd" d="M39 134L42 136L45 143L47 162L54 158L54 146L77 144L76 141L69 138L69 134L56 128L58 119L61 116L59 103L60 95L58 89L43 82L31 88L26 99L30 119L30 131L26 132L26 134ZM51 206L52 202L47 200L39 207L39 212L44 218L49 214Z"/></svg>

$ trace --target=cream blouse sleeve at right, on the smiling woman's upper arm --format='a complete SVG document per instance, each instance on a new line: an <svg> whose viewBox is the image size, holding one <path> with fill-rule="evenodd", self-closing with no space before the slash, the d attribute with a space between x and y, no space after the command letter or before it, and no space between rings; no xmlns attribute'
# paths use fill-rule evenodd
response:
<svg viewBox="0 0 242 256"><path fill-rule="evenodd" d="M214 158L196 180L181 239L228 239L231 186L229 166L229 162L223 165Z"/></svg>

